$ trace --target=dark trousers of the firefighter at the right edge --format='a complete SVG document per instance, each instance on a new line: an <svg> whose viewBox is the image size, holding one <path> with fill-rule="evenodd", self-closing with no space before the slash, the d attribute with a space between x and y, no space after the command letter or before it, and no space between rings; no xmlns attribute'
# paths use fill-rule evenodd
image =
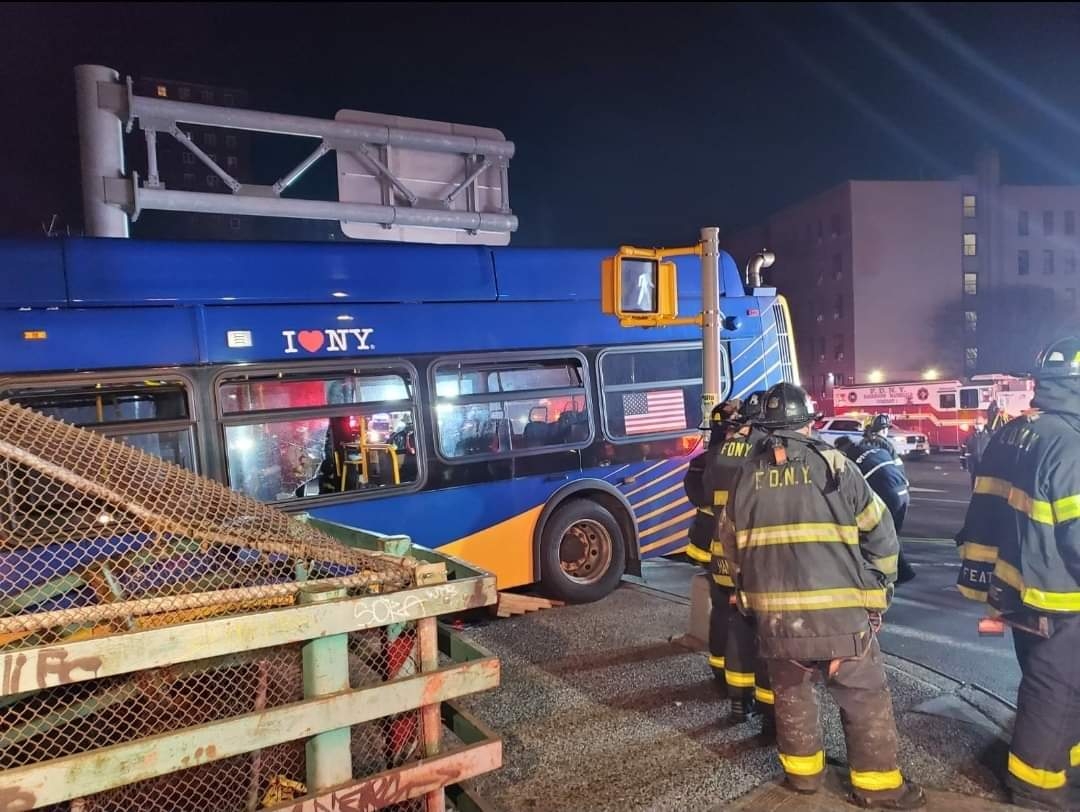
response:
<svg viewBox="0 0 1080 812"><path fill-rule="evenodd" d="M1049 638L1013 628L1021 682L1007 783L1014 802L1080 808L1080 615Z"/></svg>

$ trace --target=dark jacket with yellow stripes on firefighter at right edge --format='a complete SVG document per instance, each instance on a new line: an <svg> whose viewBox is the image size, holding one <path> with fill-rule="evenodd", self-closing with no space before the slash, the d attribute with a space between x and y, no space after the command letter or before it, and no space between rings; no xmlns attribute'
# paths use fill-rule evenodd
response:
<svg viewBox="0 0 1080 812"><path fill-rule="evenodd" d="M1016 418L978 463L958 586L999 612L1080 612L1080 416Z"/></svg>

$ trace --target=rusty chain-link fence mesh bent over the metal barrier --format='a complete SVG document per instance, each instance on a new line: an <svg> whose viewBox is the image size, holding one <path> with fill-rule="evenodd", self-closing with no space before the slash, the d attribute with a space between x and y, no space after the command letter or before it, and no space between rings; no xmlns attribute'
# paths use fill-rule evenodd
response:
<svg viewBox="0 0 1080 812"><path fill-rule="evenodd" d="M220 485L0 403L0 654L293 606L313 582L352 595L414 584L411 561L348 547ZM240 647L242 648L242 647ZM24 658L25 660L25 658ZM417 674L416 623L348 635L352 689ZM238 651L0 694L0 770L270 710L302 700L301 645ZM420 710L353 725L352 774L423 757ZM305 741L187 769L56 809L256 810L307 791ZM32 797L4 799L30 808ZM422 809L423 801L399 809Z"/></svg>

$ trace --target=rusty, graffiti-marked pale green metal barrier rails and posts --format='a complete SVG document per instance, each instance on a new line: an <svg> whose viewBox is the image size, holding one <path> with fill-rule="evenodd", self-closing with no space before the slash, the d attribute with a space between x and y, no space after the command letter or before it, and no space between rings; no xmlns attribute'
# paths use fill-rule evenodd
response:
<svg viewBox="0 0 1080 812"><path fill-rule="evenodd" d="M351 546L394 554L402 554L395 547L409 546L406 537L308 520ZM264 809L351 812L423 798L427 812L441 812L447 794L457 809L484 809L462 782L501 767L502 743L451 700L497 687L499 661L440 627L436 618L494 604L495 578L420 547L408 549L408 554L430 567L417 579L421 585L411 588L345 596L334 585L311 582L291 607L0 654L0 703L108 676L137 678L138 672L148 669L225 662L289 644L299 644L305 657L302 701L4 770L0 812L67 801L75 810L80 799L98 793L300 740L307 740L308 794ZM444 568L446 574L441 577ZM340 673L342 661L336 661L329 648L343 647L351 633L403 624L415 624L417 673L350 688L348 674ZM338 673L333 673L335 667ZM351 726L406 712L419 712L423 720L422 757L373 775L352 775L348 755L341 758L342 739L336 734L343 731L348 754ZM444 726L461 744L441 747ZM311 785L313 774L321 777Z"/></svg>

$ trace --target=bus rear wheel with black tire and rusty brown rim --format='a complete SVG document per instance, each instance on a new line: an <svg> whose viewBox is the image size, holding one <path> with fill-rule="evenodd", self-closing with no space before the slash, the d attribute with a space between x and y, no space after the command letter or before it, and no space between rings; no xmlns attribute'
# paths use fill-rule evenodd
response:
<svg viewBox="0 0 1080 812"><path fill-rule="evenodd" d="M610 593L626 567L626 541L611 512L590 499L559 505L540 537L540 584L557 600L589 604Z"/></svg>

